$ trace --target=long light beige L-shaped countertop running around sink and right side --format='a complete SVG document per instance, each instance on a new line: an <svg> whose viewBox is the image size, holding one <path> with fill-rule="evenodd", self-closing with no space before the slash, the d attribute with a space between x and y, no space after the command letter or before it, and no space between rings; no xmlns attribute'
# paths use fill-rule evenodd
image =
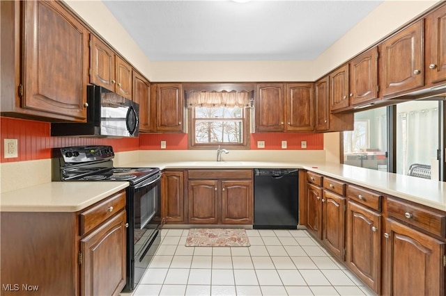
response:
<svg viewBox="0 0 446 296"><path fill-rule="evenodd" d="M446 182L421 179L414 176L404 176L364 169L352 165L337 163L274 163L257 161L184 161L156 162L139 161L126 165L128 167L160 167L164 169L252 169L252 168L296 168L305 169L335 179L364 186L387 195L400 197L411 202L446 211Z"/></svg>

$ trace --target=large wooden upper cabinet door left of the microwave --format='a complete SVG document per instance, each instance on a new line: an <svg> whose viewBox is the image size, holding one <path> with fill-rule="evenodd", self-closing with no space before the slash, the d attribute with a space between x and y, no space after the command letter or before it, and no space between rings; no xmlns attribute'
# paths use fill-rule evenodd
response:
<svg viewBox="0 0 446 296"><path fill-rule="evenodd" d="M56 1L24 1L22 108L86 120L89 32Z"/></svg>

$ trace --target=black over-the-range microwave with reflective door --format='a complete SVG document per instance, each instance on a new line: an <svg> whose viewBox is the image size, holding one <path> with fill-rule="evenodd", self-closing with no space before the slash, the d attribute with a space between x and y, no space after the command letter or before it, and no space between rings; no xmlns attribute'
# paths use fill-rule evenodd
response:
<svg viewBox="0 0 446 296"><path fill-rule="evenodd" d="M52 123L51 135L78 137L137 137L139 104L98 85L87 85L87 121Z"/></svg>

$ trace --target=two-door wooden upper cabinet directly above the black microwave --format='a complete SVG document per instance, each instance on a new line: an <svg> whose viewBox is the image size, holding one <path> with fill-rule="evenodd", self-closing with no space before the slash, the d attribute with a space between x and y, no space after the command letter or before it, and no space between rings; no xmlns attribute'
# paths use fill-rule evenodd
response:
<svg viewBox="0 0 446 296"><path fill-rule="evenodd" d="M90 54L90 83L132 99L132 67L93 34Z"/></svg>

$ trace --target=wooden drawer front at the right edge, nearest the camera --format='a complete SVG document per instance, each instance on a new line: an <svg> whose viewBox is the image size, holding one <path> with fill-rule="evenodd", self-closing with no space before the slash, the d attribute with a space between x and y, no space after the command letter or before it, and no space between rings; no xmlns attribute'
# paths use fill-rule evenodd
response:
<svg viewBox="0 0 446 296"><path fill-rule="evenodd" d="M394 217L436 236L446 236L445 213L431 211L399 199L387 198L387 216Z"/></svg>

